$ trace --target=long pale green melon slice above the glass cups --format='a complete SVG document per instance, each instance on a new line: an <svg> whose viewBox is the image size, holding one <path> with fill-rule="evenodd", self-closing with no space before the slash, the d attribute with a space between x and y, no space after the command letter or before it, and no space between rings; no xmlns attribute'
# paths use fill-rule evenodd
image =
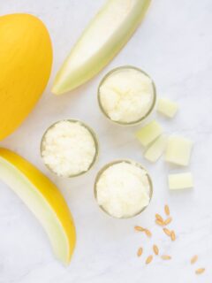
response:
<svg viewBox="0 0 212 283"><path fill-rule="evenodd" d="M63 94L99 73L133 35L151 0L108 0L57 73L52 92Z"/></svg>

